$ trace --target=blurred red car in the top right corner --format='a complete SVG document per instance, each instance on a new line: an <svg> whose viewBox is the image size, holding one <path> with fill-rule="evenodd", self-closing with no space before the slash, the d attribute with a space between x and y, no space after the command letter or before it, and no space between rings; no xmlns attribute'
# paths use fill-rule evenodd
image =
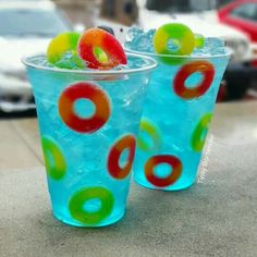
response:
<svg viewBox="0 0 257 257"><path fill-rule="evenodd" d="M218 11L221 23L238 28L257 42L257 0L236 0Z"/></svg>

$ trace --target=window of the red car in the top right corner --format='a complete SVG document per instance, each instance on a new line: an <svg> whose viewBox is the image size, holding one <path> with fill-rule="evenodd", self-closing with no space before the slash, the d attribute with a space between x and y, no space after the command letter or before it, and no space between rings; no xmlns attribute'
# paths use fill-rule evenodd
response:
<svg viewBox="0 0 257 257"><path fill-rule="evenodd" d="M232 11L232 16L257 22L257 3L245 3Z"/></svg>

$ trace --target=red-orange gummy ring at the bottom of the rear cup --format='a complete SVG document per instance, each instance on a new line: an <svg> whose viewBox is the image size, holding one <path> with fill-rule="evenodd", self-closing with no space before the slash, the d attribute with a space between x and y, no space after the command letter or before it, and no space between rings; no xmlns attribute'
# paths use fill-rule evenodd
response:
<svg viewBox="0 0 257 257"><path fill-rule="evenodd" d="M164 179L158 178L154 173L154 168L158 164L167 163L172 168L172 172ZM155 186L166 187L174 184L182 173L182 162L179 158L170 155L152 156L145 164L146 179Z"/></svg>

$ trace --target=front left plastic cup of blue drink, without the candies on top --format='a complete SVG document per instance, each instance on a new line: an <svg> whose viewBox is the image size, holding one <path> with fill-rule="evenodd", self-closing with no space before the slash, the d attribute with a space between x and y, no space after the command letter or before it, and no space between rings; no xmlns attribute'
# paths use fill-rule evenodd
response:
<svg viewBox="0 0 257 257"><path fill-rule="evenodd" d="M149 75L157 63L127 56L123 70L60 70L23 60L36 100L56 218L102 227L122 218Z"/></svg>

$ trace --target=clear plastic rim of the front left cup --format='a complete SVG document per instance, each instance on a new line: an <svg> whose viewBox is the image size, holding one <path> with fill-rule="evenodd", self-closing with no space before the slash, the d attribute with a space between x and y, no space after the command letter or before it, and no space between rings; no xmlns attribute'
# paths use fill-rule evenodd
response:
<svg viewBox="0 0 257 257"><path fill-rule="evenodd" d="M138 59L143 59L146 62L146 66L143 68L132 68L126 70L69 70L69 69L60 69L60 68L51 68L51 66L44 66L40 64L35 64L29 59L32 58L39 58L46 57L45 53L36 53L30 56L25 56L22 58L22 63L32 69L42 70L42 71L50 71L50 72L58 72L58 73L72 73L72 74L81 74L81 75L88 75L88 76L96 76L96 75L126 75L126 74L134 74L154 70L157 68L158 63L155 59L150 57L143 56L140 53L132 53L126 52L127 57L134 57Z"/></svg>

